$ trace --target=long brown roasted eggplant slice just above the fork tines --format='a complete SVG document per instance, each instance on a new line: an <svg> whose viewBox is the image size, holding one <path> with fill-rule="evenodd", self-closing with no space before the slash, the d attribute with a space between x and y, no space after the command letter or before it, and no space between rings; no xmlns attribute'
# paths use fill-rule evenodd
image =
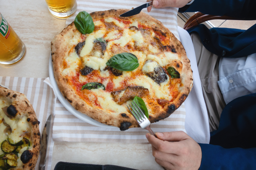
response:
<svg viewBox="0 0 256 170"><path fill-rule="evenodd" d="M132 100L135 96L143 97L149 93L147 88L143 88L141 86L136 87L127 87L124 90L113 91L111 92L111 96L114 98L114 101L121 105L128 100Z"/></svg>

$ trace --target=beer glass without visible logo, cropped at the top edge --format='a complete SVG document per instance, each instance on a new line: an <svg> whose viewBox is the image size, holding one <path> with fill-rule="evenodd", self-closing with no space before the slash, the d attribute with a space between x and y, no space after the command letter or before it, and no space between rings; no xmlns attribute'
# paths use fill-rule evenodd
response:
<svg viewBox="0 0 256 170"><path fill-rule="evenodd" d="M45 0L50 13L56 18L68 18L77 10L76 0Z"/></svg>

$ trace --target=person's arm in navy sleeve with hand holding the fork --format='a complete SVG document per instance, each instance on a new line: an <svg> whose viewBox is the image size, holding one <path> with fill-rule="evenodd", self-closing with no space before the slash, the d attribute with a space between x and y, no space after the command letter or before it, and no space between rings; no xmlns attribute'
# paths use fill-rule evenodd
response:
<svg viewBox="0 0 256 170"><path fill-rule="evenodd" d="M156 133L156 136L147 134L146 138L152 145L156 162L168 170L251 170L256 167L256 148L224 149L198 144L182 131Z"/></svg>

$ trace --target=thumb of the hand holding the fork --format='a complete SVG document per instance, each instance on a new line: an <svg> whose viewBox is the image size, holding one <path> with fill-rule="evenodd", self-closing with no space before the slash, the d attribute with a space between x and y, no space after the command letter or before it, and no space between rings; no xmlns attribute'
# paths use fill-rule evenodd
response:
<svg viewBox="0 0 256 170"><path fill-rule="evenodd" d="M164 140L164 141L181 141L190 138L185 132L183 131L175 131L175 132L157 132L156 136L158 139Z"/></svg>

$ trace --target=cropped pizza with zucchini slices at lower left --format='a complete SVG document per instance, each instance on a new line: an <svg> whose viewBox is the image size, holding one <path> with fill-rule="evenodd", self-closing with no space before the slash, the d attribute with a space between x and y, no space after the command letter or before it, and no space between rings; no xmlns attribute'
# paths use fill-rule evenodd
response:
<svg viewBox="0 0 256 170"><path fill-rule="evenodd" d="M27 97L0 86L0 169L34 169L40 151L39 121Z"/></svg>

